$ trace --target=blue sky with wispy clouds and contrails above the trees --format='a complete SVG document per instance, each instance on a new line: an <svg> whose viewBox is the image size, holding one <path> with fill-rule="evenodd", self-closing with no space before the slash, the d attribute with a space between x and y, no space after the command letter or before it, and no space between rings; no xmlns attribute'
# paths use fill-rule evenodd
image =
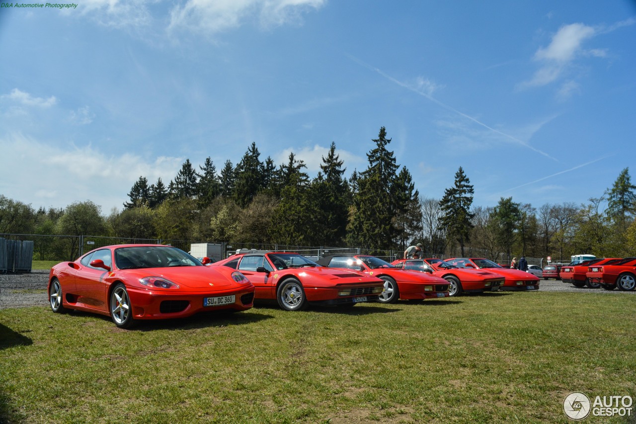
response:
<svg viewBox="0 0 636 424"><path fill-rule="evenodd" d="M0 8L0 194L34 208L107 215L252 141L312 177L334 141L349 174L382 126L422 197L462 166L478 206L580 204L634 163L633 1L76 3Z"/></svg>

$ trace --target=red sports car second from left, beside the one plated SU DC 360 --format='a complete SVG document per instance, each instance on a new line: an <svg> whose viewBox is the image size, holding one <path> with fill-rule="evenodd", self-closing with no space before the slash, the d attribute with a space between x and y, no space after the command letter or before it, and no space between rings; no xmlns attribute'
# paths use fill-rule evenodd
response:
<svg viewBox="0 0 636 424"><path fill-rule="evenodd" d="M298 253L237 253L212 268L238 269L256 286L256 299L276 299L286 311L308 303L353 306L378 299L384 281L360 272L322 267Z"/></svg>

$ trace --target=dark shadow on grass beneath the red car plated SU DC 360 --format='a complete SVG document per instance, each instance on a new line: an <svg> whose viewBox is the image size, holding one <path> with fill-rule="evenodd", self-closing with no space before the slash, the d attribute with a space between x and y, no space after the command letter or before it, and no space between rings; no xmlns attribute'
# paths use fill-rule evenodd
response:
<svg viewBox="0 0 636 424"><path fill-rule="evenodd" d="M230 311L203 312L186 318L168 318L165 320L137 320L130 329L118 329L113 320L106 315L92 314L84 311L70 311L69 315L83 316L103 320L113 325L120 331L153 331L153 330L191 330L205 329L207 327L228 327L229 325L242 325L259 322L273 318L271 315L258 313L242 313ZM0 421L1 422L1 421Z"/></svg>

